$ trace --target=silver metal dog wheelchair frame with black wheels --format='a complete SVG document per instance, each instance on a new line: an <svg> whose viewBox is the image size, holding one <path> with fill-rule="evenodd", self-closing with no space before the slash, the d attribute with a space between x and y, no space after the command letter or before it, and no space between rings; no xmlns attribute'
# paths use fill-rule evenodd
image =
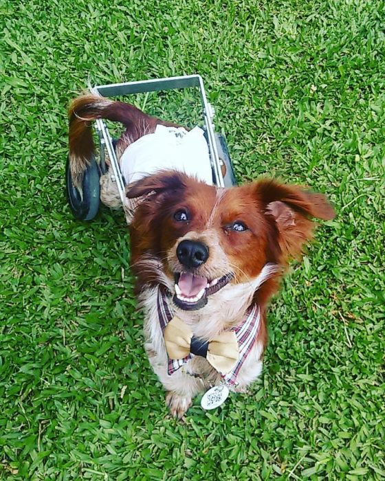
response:
<svg viewBox="0 0 385 481"><path fill-rule="evenodd" d="M208 144L210 167L212 170L212 182L217 187L230 187L236 185L234 170L228 152L225 137L214 131L214 109L206 98L203 80L199 75L159 78L155 80L143 80L111 85L98 85L91 87L91 93L103 97L120 97L136 93L148 93L173 89L199 89L201 100L201 114L203 117L202 128ZM111 137L107 124L102 119L95 122L96 133L99 139L98 159L93 156L88 159L87 170L83 177L82 192L72 182L69 158L66 165L66 191L69 207L76 219L91 221L98 214L101 199L100 184L108 180L112 184L112 190L116 192L116 200L113 207L125 205L125 188L120 164L115 155L114 140ZM108 159L108 162L106 160ZM108 166L107 166L108 164ZM108 179L107 179L108 177Z"/></svg>

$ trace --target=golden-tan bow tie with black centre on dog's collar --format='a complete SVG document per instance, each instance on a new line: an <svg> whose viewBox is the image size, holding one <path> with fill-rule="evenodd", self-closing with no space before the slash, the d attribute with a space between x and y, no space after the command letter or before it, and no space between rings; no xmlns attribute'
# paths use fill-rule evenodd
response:
<svg viewBox="0 0 385 481"><path fill-rule="evenodd" d="M179 317L173 317L164 328L164 342L170 359L184 359L189 354L203 356L222 374L232 371L239 359L234 331L225 331L204 342L197 339Z"/></svg>

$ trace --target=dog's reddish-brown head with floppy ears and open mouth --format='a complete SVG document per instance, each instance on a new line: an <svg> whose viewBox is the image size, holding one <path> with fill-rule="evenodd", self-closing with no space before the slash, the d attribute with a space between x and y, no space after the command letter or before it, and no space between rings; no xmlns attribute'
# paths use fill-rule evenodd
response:
<svg viewBox="0 0 385 481"><path fill-rule="evenodd" d="M134 267L142 256L159 260L175 304L188 311L228 284L258 278L266 265L285 267L311 238L309 216L334 216L322 194L272 180L220 189L168 171L138 181L127 196L145 197L131 225Z"/></svg>

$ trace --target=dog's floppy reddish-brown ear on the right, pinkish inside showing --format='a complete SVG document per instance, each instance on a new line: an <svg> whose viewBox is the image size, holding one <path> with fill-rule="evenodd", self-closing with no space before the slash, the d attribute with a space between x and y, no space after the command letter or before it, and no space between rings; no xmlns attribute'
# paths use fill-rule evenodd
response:
<svg viewBox="0 0 385 481"><path fill-rule="evenodd" d="M257 197L267 218L274 219L278 243L285 258L298 257L311 239L314 223L309 217L328 221L336 215L323 194L276 181L256 183Z"/></svg>

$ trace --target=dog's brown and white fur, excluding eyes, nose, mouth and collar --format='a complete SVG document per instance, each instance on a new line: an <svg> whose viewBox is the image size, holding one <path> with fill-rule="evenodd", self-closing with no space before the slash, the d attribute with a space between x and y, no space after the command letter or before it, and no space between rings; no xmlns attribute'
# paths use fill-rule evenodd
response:
<svg viewBox="0 0 385 481"><path fill-rule="evenodd" d="M87 161L94 153L90 122L97 118L121 122L126 127L116 150L120 155L129 143L153 132L157 124L175 126L122 102L92 95L74 100L69 109L69 158L72 177L77 186L80 186ZM180 265L176 255L180 240L198 240L208 247L208 260L195 269L189 269L191 273L206 278L208 282L229 272L234 273L230 285L219 291L222 297L215 301L219 293L209 295L207 309L211 318L206 315L206 307L201 309L201 314L197 311L197 315L185 317L186 322L199 324L197 329L200 329L203 338L208 340L211 335L217 335L239 322L248 309L248 303L255 302L261 309L261 326L254 355L257 352L259 354L255 358L249 357L250 366L245 369L247 372L243 377L243 382L247 385L260 372L259 346L264 348L267 343L268 302L278 290L280 278L289 260L299 257L303 246L312 237L315 224L309 217L332 219L334 211L325 196L303 190L300 186L261 180L221 191L174 171L145 177L129 188L127 197L145 198L135 210L130 234L131 265L137 276L137 291L142 293L143 301L147 299L150 303L146 306L146 348L151 351L151 363L155 372L169 391L166 399L171 412L181 416L188 409L191 397L199 392L202 385L197 387L194 384L195 377L189 377L188 374L171 376L173 379L165 374L166 371L162 370L165 368L162 364L164 346L159 344L158 335L153 339L156 327L159 329L159 320L156 315L151 317L155 306L153 292L156 291L152 288L164 284L173 289L175 272L180 273L186 269ZM180 209L188 212L188 221L181 223L174 219L175 212ZM244 223L248 230L234 231L230 228L234 221ZM261 271L266 265L274 265L278 269L276 272L269 271L269 276L263 278L262 284L252 283L255 280L259 282L262 278ZM232 295L231 302L234 302L234 309L228 308L229 311L232 309L233 317L230 319L227 310L222 317L217 315L221 302L225 302L229 295ZM241 296L240 299L238 295ZM204 331L206 324L208 331ZM214 379L218 378L218 373L213 373L212 369L207 371L205 359L195 361L190 366L193 376L208 374L207 379L217 382Z"/></svg>

